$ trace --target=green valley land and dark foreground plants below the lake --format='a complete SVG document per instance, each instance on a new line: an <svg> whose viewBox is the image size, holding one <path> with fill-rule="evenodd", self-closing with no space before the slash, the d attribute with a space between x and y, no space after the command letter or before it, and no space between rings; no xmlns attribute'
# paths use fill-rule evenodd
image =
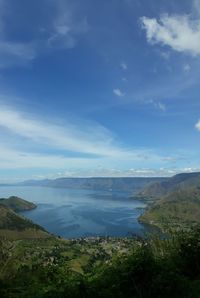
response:
<svg viewBox="0 0 200 298"><path fill-rule="evenodd" d="M124 247L130 241L128 252L108 259L100 253L99 247L116 248L123 241ZM0 254L1 297L200 297L199 228L148 241L3 241ZM82 271L72 266L77 259Z"/></svg>

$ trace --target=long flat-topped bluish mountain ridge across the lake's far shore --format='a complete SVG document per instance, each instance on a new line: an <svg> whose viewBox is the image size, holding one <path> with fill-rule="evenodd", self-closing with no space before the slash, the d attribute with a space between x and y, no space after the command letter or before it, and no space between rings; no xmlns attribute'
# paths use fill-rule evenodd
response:
<svg viewBox="0 0 200 298"><path fill-rule="evenodd" d="M78 188L95 190L121 190L137 193L152 183L164 182L166 178L143 177L97 177L97 178L58 178L54 180L28 180L18 185L46 186L58 188Z"/></svg>

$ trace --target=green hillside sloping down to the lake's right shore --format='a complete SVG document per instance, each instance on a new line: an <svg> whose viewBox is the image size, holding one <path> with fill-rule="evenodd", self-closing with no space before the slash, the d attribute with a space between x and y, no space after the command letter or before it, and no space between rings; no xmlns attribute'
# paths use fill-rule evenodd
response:
<svg viewBox="0 0 200 298"><path fill-rule="evenodd" d="M178 174L138 194L149 203L139 220L161 229L200 223L200 173Z"/></svg>

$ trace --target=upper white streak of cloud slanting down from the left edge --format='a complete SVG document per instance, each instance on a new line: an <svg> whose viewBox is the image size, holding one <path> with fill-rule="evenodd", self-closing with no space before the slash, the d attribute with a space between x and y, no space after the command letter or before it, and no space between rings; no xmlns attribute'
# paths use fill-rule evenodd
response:
<svg viewBox="0 0 200 298"><path fill-rule="evenodd" d="M112 147L113 139L109 131L94 123L84 127L80 125L82 128L78 128L73 123L67 123L63 128L60 125L36 119L34 116L1 107L0 126L36 143L54 148L96 155L117 153Z"/></svg>

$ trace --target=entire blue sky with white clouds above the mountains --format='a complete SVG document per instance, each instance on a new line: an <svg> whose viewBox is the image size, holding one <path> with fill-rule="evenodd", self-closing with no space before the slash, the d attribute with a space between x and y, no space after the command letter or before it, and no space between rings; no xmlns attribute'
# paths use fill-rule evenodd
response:
<svg viewBox="0 0 200 298"><path fill-rule="evenodd" d="M200 170L200 0L0 0L0 183Z"/></svg>

